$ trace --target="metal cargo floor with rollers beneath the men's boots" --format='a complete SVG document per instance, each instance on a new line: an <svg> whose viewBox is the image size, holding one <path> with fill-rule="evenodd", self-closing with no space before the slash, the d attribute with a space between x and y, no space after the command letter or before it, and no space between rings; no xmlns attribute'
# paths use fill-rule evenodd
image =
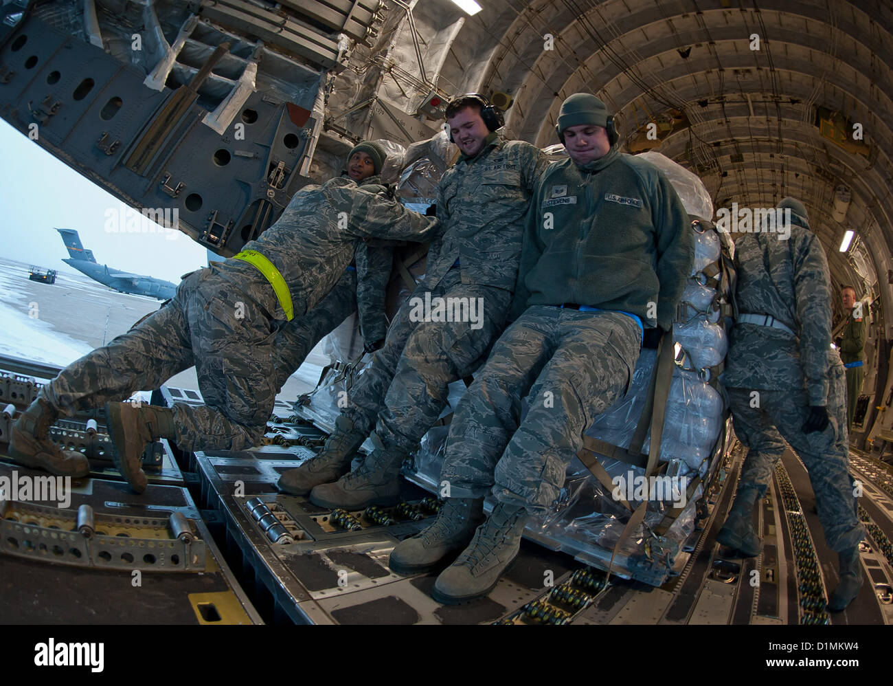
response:
<svg viewBox="0 0 893 686"><path fill-rule="evenodd" d="M176 395L163 389L162 397ZM687 565L662 587L607 577L572 556L525 540L518 560L487 598L443 607L430 598L436 574L401 577L388 569L396 542L432 521L437 503L430 493L403 481L405 505L399 509L347 514L280 494L275 487L280 474L312 456L326 434L308 422L289 420L285 403L278 404L276 414L280 418L268 427L267 445L248 451L184 454L162 442L163 464L146 467L153 476L142 496L129 491L111 463L97 462L87 479L72 484L72 517L81 504L114 515L166 517L181 511L196 538L206 542L213 573L146 572L143 587L132 588L125 570L59 565L52 556L0 555L0 616L33 623L877 625L893 619L886 591L893 574L884 543L873 539L865 546L865 585L854 605L844 613L822 614L819 598L837 583L837 558L824 545L808 477L791 454L755 511L763 554L732 557L716 542L744 456L740 446L726 457L724 478L707 496L708 516L703 530L687 542ZM886 472L878 469L870 456L854 459L855 478L865 484L864 512L889 546L893 510L887 491L878 485ZM13 470L38 475L0 456L0 477ZM792 497L799 510L790 505ZM798 551L810 550L822 573L818 590L798 576L805 564L798 562ZM193 577L195 586L189 581ZM204 593L229 593L235 604L218 599L209 609L201 599ZM36 598L46 602L35 605ZM236 605L240 612L221 610Z"/></svg>

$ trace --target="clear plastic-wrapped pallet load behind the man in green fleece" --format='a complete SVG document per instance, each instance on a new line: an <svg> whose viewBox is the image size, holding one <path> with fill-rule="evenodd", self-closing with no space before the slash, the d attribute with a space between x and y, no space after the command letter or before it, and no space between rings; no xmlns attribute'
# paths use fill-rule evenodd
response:
<svg viewBox="0 0 893 686"><path fill-rule="evenodd" d="M723 310L729 302L730 281L722 280L720 265L723 247L727 255L732 247L714 230L710 220L713 203L695 174L658 153L640 156L654 163L671 181L689 212L695 231L691 280L683 290L677 320L673 323L672 353L675 364L663 414L659 451L659 464L669 463L667 473L684 478L685 481L680 481L685 484L698 476L706 478L714 472L713 458L718 452L717 442L728 415L723 402L724 391L717 376L722 372L722 363L729 348ZM665 337L664 345L669 342ZM588 436L624 450L630 448L647 405L647 393L656 361L655 350L642 351L626 397L597 417L586 432ZM647 417L646 421L649 419ZM648 429L642 454L647 455L650 447ZM642 467L604 455L598 456L598 463L614 484L644 480L645 470ZM697 500L702 493L703 486L698 486L689 494L688 503L681 514L664 531L665 539L680 546L688 538L694 529ZM626 497L629 493L621 495ZM550 540L554 547L600 564L599 560L604 562L610 559L610 555L605 556L605 549L613 550L630 516L630 510L615 496L612 489L598 481L575 458L568 467L561 497L548 515L536 525L529 526L529 531L534 529L536 534ZM638 500L630 504L636 506ZM661 523L672 506L666 500L651 498L644 526L653 528ZM644 535L646 530L640 532L642 535L630 536L621 547L622 553L630 556L630 560L646 558L644 545L648 537ZM598 549L601 556L596 554ZM636 564L630 562L627 570L630 571L630 567ZM647 573L631 572L631 575L649 581ZM659 575L651 577L655 581L659 578Z"/></svg>

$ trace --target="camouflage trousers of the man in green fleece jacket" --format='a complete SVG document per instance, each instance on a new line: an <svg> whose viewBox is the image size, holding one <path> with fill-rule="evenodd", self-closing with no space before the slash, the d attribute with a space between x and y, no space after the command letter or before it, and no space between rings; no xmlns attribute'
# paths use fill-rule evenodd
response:
<svg viewBox="0 0 893 686"><path fill-rule="evenodd" d="M545 513L583 432L629 389L640 350L626 314L528 307L456 407L440 472L450 497L492 489L501 502Z"/></svg>

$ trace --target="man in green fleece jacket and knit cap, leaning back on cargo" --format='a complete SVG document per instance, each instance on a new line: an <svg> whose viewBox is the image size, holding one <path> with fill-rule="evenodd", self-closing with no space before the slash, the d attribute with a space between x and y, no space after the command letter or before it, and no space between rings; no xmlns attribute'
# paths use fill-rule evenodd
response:
<svg viewBox="0 0 893 686"><path fill-rule="evenodd" d="M558 126L571 157L537 184L518 319L456 407L440 473L447 503L390 556L392 570L415 573L464 548L435 583L442 603L478 598L497 583L529 515L557 498L589 424L626 393L642 322L670 330L691 272L693 235L680 198L654 166L613 146L604 103L570 96ZM497 506L480 524L491 491Z"/></svg>

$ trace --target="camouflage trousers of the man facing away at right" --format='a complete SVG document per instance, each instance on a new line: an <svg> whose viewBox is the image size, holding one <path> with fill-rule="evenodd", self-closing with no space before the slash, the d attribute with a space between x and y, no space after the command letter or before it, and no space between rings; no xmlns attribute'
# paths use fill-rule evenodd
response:
<svg viewBox="0 0 893 686"><path fill-rule="evenodd" d="M756 391L759 407L751 407L755 403L751 389L727 390L735 435L749 448L738 492L756 489L759 497L764 497L787 440L809 473L825 541L829 548L839 552L857 545L865 532L853 503L846 386L843 364L839 361L831 367L829 381L830 423L825 431L808 434L800 429L809 414L805 389Z"/></svg>

